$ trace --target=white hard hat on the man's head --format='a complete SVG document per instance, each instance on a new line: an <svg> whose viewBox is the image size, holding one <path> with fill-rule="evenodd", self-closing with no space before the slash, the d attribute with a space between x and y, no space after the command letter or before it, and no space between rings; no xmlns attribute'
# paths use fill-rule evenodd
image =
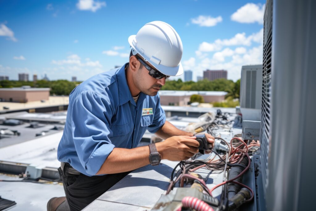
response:
<svg viewBox="0 0 316 211"><path fill-rule="evenodd" d="M183 73L181 57L183 52L179 34L169 24L162 21L146 23L128 42L133 55L141 55L158 71L167 76Z"/></svg>

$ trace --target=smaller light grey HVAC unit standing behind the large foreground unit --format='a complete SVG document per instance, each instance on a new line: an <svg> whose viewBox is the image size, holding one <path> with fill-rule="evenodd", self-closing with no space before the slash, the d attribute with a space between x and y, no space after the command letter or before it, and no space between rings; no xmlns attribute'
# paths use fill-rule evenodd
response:
<svg viewBox="0 0 316 211"><path fill-rule="evenodd" d="M243 120L260 121L262 65L241 68L240 111Z"/></svg>

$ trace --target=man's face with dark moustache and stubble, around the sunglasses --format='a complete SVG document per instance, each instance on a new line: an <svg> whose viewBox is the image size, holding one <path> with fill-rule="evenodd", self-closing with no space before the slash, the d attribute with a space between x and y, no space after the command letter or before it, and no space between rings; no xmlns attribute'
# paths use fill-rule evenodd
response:
<svg viewBox="0 0 316 211"><path fill-rule="evenodd" d="M138 61L139 62L139 61ZM146 62L151 68L148 62ZM148 74L148 70L142 65L142 68L136 72L135 85L136 87L146 95L155 96L163 85L166 83L166 78L156 79Z"/></svg>

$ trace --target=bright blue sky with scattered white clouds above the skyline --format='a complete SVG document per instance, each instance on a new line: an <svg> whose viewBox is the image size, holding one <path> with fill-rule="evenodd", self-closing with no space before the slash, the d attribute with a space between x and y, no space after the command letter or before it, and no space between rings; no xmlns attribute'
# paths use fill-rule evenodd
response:
<svg viewBox="0 0 316 211"><path fill-rule="evenodd" d="M17 80L85 80L128 62L128 37L151 21L169 23L183 43L193 80L206 69L240 78L262 63L265 1L0 0L0 75ZM183 79L184 76L171 77Z"/></svg>

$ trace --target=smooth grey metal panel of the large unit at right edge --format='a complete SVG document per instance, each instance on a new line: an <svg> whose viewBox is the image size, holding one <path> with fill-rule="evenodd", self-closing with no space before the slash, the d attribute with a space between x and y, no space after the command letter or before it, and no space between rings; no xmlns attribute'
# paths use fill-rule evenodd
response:
<svg viewBox="0 0 316 211"><path fill-rule="evenodd" d="M267 210L314 207L315 11L312 0L273 2Z"/></svg>

